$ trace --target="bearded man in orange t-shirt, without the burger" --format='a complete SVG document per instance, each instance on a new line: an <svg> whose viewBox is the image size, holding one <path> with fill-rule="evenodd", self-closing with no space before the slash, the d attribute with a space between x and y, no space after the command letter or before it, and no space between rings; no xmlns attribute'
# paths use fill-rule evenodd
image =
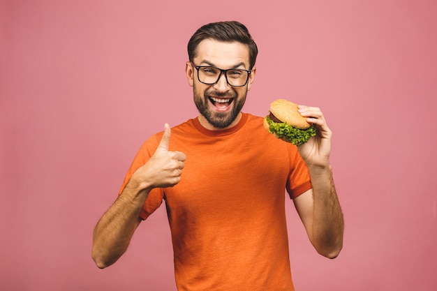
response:
<svg viewBox="0 0 437 291"><path fill-rule="evenodd" d="M207 24L191 37L186 77L200 115L171 130L165 124L142 145L94 230L98 267L117 261L165 200L178 290L294 290L284 189L316 251L339 254L331 130L318 108L299 106L318 134L295 147L267 133L262 117L241 112L257 54L239 22Z"/></svg>

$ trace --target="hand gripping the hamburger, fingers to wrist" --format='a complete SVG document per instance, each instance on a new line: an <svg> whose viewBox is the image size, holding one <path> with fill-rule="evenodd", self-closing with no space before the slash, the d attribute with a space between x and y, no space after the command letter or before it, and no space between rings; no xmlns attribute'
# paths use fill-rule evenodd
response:
<svg viewBox="0 0 437 291"><path fill-rule="evenodd" d="M329 154L331 153L332 131L326 124L325 117L318 107L298 105L299 113L306 117L309 124L316 128L316 136L298 147L299 154L306 165L326 167L329 166Z"/></svg>

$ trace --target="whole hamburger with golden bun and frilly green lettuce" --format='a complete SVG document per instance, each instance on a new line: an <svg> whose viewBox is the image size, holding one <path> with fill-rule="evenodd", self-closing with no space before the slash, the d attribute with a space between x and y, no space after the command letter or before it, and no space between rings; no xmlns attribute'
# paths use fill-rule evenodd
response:
<svg viewBox="0 0 437 291"><path fill-rule="evenodd" d="M285 99L274 100L269 112L263 124L274 137L299 146L316 135L316 128L306 122L306 118L297 111L295 103Z"/></svg>

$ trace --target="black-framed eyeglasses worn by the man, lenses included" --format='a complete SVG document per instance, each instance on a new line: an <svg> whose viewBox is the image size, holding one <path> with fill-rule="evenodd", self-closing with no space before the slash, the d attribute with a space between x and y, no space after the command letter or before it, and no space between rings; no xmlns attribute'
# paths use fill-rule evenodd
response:
<svg viewBox="0 0 437 291"><path fill-rule="evenodd" d="M216 82L220 80L221 74L224 74L229 86L243 87L247 84L247 81L249 81L249 75L251 75L251 70L237 68L222 70L221 68L211 66L195 66L195 64L193 64L193 66L198 70L199 82L208 85L216 84Z"/></svg>

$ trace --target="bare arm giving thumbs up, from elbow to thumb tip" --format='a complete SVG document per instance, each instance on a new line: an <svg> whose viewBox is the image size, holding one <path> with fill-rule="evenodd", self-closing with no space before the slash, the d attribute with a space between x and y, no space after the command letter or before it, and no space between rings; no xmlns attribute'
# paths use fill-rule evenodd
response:
<svg viewBox="0 0 437 291"><path fill-rule="evenodd" d="M186 156L179 151L168 151L169 141L170 126L165 124L163 138L154 155L133 173L124 191L98 221L91 250L97 267L110 266L126 252L140 225L140 213L151 189L179 183Z"/></svg>

